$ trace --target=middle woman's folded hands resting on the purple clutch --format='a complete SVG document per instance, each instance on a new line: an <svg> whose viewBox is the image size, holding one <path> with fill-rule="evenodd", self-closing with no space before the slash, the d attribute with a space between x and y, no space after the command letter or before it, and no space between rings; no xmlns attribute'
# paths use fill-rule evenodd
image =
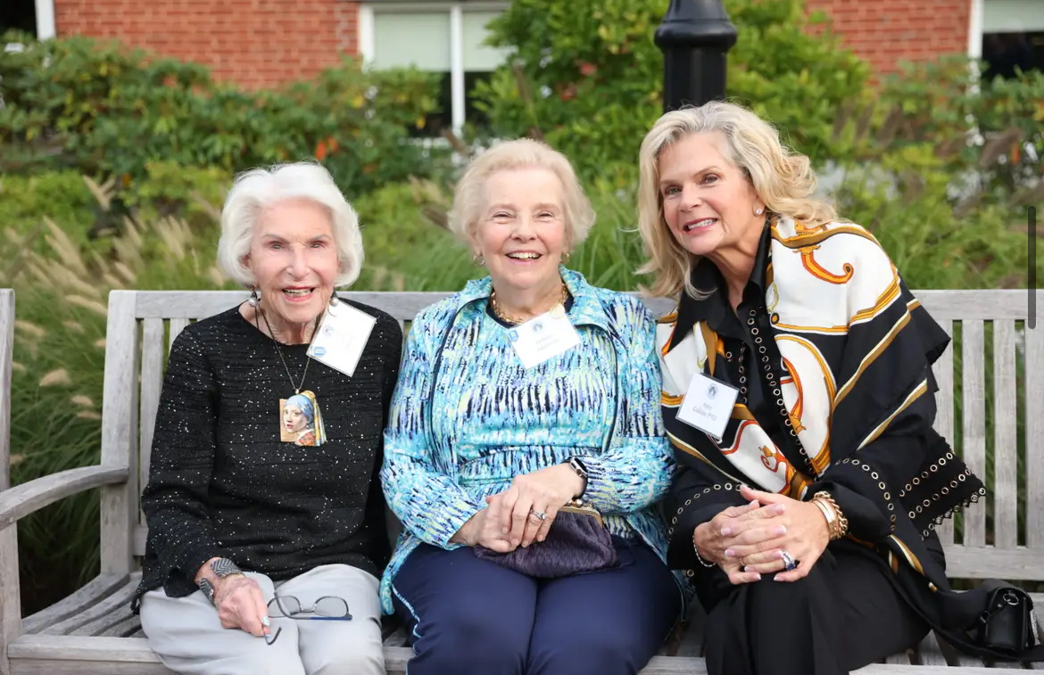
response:
<svg viewBox="0 0 1044 675"><path fill-rule="evenodd" d="M498 553L543 541L559 509L584 487L584 479L568 464L517 476L509 488L487 497L487 506L471 516L451 541L484 546Z"/></svg>

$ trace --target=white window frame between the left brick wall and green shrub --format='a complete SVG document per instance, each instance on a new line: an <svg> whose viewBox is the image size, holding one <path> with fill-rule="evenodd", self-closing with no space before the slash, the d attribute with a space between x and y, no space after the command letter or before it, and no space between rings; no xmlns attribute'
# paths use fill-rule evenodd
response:
<svg viewBox="0 0 1044 675"><path fill-rule="evenodd" d="M370 67L377 53L374 16L380 14L448 13L450 40L450 126L453 134L460 136L465 124L467 92L464 79L464 13L503 11L511 6L505 0L478 0L473 2L361 2L357 25L359 28L359 55L364 67Z"/></svg>

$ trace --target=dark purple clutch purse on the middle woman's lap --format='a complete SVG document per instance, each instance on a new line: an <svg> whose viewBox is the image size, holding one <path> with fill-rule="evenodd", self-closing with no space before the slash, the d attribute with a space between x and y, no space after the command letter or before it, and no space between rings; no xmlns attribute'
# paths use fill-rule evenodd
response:
<svg viewBox="0 0 1044 675"><path fill-rule="evenodd" d="M524 549L518 547L509 553L497 553L483 546L476 546L474 551L478 558L538 579L555 579L619 565L613 537L601 514L585 505L567 505L559 509L543 541L533 541Z"/></svg>

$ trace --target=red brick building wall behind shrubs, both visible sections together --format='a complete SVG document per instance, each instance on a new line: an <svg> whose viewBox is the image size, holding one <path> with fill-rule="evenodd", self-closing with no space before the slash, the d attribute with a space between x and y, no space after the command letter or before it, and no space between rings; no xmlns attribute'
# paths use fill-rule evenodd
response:
<svg viewBox="0 0 1044 675"><path fill-rule="evenodd" d="M807 0L877 73L964 53L971 0ZM218 79L271 87L358 53L358 5L343 0L54 0L58 35L115 38L210 65Z"/></svg>

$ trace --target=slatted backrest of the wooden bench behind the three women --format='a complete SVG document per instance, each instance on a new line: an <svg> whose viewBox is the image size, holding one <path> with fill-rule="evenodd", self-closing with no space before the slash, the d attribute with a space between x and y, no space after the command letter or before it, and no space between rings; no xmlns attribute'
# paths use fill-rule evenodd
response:
<svg viewBox="0 0 1044 675"><path fill-rule="evenodd" d="M404 329L417 313L448 295L446 292L347 293L352 299L379 307ZM1024 290L916 291L932 317L954 338L934 366L940 387L935 428L987 482L990 497L972 504L956 519L939 527L948 553L952 577L1044 579L1044 461L1034 452L1044 434L1044 329L1026 326L1027 292ZM132 487L133 520L127 529L113 531L123 537L133 556L144 555L146 527L138 507L139 487L148 482L152 430L159 406L163 370L170 344L193 320L222 312L245 300L243 291L114 291L114 302L133 308L133 321L119 320L110 329L126 335L109 336L109 348L133 348L113 364L127 377L116 380L119 391L110 401L110 355L106 351L105 412L123 408L123 419L135 420L133 460L123 452L136 480ZM1044 292L1037 294L1038 302ZM668 312L673 303L647 299L655 315ZM134 369L128 371L128 364ZM139 366L140 364L140 366ZM132 377L137 373L138 378ZM116 376L113 376L115 380ZM135 380L140 381L134 387ZM128 389L134 390L128 391ZM134 410L128 406L133 405ZM132 415L133 413L133 415ZM140 428L137 418L140 415ZM1022 433L1019 434L1021 428ZM103 435L115 442L115 432ZM1027 449L1030 452L1026 452ZM1021 478L1020 478L1021 477ZM125 505L120 501L118 506ZM1020 508L1021 505L1021 508ZM117 506L110 508L118 514ZM1017 514L1023 514L1020 522ZM103 529L106 523L103 516ZM118 526L115 521L109 524ZM960 536L954 540L954 531Z"/></svg>

